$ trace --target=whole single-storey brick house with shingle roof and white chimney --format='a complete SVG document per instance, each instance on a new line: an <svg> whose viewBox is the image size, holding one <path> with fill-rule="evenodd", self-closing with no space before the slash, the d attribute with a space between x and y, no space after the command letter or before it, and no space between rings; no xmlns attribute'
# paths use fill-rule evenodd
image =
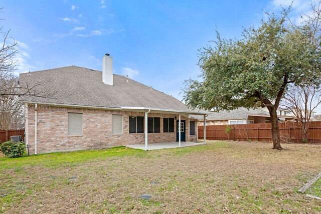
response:
<svg viewBox="0 0 321 214"><path fill-rule="evenodd" d="M148 143L197 140L193 117L205 113L113 74L109 54L102 67L102 72L69 66L20 74L24 88L41 92L21 97L31 154L139 143L147 150Z"/></svg>

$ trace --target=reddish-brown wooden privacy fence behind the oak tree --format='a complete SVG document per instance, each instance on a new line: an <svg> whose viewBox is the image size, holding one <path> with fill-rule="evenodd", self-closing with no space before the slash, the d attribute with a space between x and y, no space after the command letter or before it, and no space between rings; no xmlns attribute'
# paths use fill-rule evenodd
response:
<svg viewBox="0 0 321 214"><path fill-rule="evenodd" d="M206 126L206 139L272 141L271 123L229 125L229 127L231 131L227 134L226 125ZM302 142L298 123L279 123L279 129L282 142ZM198 137L204 139L204 126L198 126ZM321 121L310 122L307 138L309 143L321 143Z"/></svg>

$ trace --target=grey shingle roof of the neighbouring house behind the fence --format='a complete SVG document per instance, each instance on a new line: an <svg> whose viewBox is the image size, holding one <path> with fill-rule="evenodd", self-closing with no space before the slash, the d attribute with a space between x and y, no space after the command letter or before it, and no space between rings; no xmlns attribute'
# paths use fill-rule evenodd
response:
<svg viewBox="0 0 321 214"><path fill-rule="evenodd" d="M255 114L269 117L267 111L261 109L246 109L238 108L230 111L210 112L206 117L207 120L235 120L235 119L248 119L248 115Z"/></svg>

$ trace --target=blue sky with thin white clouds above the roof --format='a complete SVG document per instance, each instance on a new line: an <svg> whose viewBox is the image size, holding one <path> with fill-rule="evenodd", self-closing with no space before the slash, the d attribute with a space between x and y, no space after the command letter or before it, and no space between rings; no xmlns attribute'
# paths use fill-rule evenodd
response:
<svg viewBox="0 0 321 214"><path fill-rule="evenodd" d="M200 74L198 49L215 40L239 38L259 25L274 1L45 1L2 0L3 30L20 44L17 73L76 65L101 70L105 53L116 74L182 99L184 80ZM293 19L309 1L294 0Z"/></svg>

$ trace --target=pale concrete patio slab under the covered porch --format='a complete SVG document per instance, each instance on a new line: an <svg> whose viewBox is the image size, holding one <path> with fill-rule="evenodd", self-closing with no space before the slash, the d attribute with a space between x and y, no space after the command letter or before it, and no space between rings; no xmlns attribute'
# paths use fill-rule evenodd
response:
<svg viewBox="0 0 321 214"><path fill-rule="evenodd" d="M181 147L186 146L199 146L204 145L203 143L193 143L193 142L181 142ZM133 149L142 149L145 150L145 144L134 144L134 145L126 145L129 148ZM178 148L178 142L165 142L165 143L148 143L147 149L148 150L155 150L155 149L169 149L169 148Z"/></svg>

